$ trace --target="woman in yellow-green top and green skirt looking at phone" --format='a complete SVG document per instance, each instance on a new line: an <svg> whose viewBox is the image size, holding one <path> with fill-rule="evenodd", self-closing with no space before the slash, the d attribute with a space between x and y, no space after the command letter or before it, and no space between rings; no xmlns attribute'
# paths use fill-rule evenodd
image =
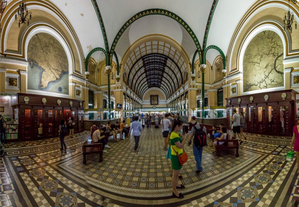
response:
<svg viewBox="0 0 299 207"><path fill-rule="evenodd" d="M173 197L176 198L184 198L183 194L179 193L177 189L184 189L184 185L179 185L179 173L180 169L182 168L179 157L177 154L181 155L183 154L183 146L186 142L187 134L183 139L181 139L182 134L180 133L180 130L183 127L183 122L181 120L175 120L173 121L172 128L171 128L171 134L169 138L169 144L171 146L171 165L173 168L173 174L171 178L171 184L173 188ZM177 154L176 154L177 152Z"/></svg>

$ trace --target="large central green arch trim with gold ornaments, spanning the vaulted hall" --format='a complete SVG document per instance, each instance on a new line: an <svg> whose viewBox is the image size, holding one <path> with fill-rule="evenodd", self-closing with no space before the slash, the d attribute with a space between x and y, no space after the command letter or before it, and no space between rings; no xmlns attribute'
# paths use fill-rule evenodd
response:
<svg viewBox="0 0 299 207"><path fill-rule="evenodd" d="M95 1L95 0L94 0ZM118 40L120 39L121 35L123 34L123 32L136 20L140 19L141 17L144 16L148 16L148 15L163 15L163 16L168 16L174 20L176 20L179 24L181 24L184 29L190 34L190 36L192 37L197 51L198 53L202 53L202 49L200 47L200 43L199 43L199 39L196 37L195 33L193 32L193 30L190 28L190 26L183 20L181 19L181 17L179 17L178 15L176 15L175 13L165 10L165 9L147 9L147 10L143 10L141 12L136 13L134 16L132 16L125 24L123 24L123 26L120 28L120 30L118 31L118 34L115 36L115 39L112 43L112 47L110 48L110 52L109 52L109 62L112 62L112 54L115 50L115 47L118 43Z"/></svg>

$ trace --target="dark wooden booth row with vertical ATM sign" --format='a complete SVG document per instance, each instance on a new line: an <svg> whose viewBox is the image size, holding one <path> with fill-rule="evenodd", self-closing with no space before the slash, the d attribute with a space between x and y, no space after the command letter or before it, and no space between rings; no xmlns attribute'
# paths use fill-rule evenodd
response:
<svg viewBox="0 0 299 207"><path fill-rule="evenodd" d="M282 93L287 94L286 98L282 98ZM283 90L227 98L227 102L230 100L230 104L226 105L227 126L231 128L233 109L236 108L237 112L244 112L245 132L292 136L293 126L297 125L296 93L293 90ZM265 95L269 96L268 99L265 99L267 97ZM251 96L254 97L252 101Z"/></svg>

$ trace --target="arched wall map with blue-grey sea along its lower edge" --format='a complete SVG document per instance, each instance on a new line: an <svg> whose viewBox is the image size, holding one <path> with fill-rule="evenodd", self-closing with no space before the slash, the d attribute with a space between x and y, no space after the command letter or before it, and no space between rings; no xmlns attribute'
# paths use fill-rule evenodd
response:
<svg viewBox="0 0 299 207"><path fill-rule="evenodd" d="M28 44L28 89L68 95L68 58L58 40L37 33Z"/></svg>

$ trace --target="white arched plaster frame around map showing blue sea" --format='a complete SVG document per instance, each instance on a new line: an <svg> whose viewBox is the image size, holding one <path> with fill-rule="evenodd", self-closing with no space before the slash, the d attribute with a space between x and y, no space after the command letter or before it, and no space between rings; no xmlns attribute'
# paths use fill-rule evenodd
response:
<svg viewBox="0 0 299 207"><path fill-rule="evenodd" d="M54 36L57 41L62 45L66 56L68 58L68 75L71 75L73 73L73 66L74 66L74 60L73 60L73 54L71 52L71 49L69 48L68 44L66 43L63 36L58 33L58 31L53 30L51 27L45 27L45 26L38 26L35 27L32 30L29 30L29 33L27 35L27 38L25 40L25 59L28 61L28 44L30 39L37 33L47 33L49 35ZM28 67L28 66L27 66ZM28 68L26 70L28 72ZM69 80L68 80L69 81ZM70 90L71 88L68 87L68 95L66 94L60 94L60 93L53 93L53 92L47 92L47 91L37 91L37 90L30 90L28 89L28 75L26 76L26 91L33 93L33 94L44 94L44 95L54 95L59 97L71 97Z"/></svg>

